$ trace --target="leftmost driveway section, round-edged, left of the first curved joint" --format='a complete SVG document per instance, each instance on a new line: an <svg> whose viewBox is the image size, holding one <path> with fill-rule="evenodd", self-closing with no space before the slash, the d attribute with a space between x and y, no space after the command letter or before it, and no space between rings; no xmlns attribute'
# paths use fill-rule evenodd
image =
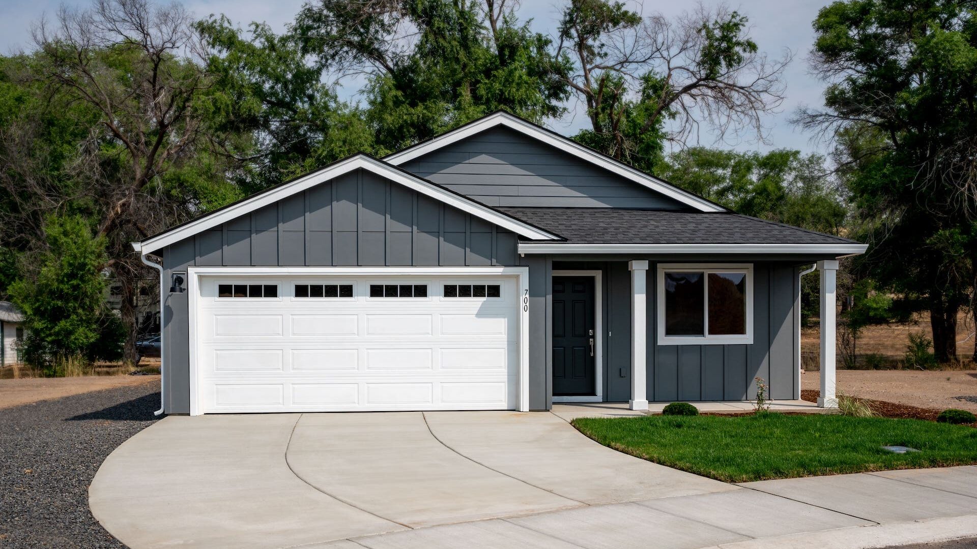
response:
<svg viewBox="0 0 977 549"><path fill-rule="evenodd" d="M321 493L285 463L296 414L170 416L113 451L92 514L136 548L288 547L404 529Z"/></svg>

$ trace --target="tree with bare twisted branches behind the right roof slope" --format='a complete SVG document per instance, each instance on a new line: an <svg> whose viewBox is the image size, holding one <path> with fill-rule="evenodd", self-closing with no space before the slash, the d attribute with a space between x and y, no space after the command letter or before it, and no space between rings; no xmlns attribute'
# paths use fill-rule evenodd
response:
<svg viewBox="0 0 977 549"><path fill-rule="evenodd" d="M761 116L783 101L784 59L771 61L748 36L747 18L723 4L677 18L642 18L623 2L571 0L554 57L558 74L587 106L575 139L652 171L664 143L718 139L745 130L763 139Z"/></svg>

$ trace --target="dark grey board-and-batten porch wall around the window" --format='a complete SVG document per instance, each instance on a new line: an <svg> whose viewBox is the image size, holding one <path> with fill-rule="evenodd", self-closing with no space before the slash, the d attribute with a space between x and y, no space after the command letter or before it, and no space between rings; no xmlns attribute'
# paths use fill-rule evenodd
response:
<svg viewBox="0 0 977 549"><path fill-rule="evenodd" d="M667 262L673 263L673 262ZM605 278L604 391L607 401L631 397L631 280L626 262L575 269L602 269ZM658 345L658 265L648 270L647 390L649 401L743 401L756 396L754 378L763 378L770 398L796 399L798 363L797 268L753 264L751 345Z"/></svg>

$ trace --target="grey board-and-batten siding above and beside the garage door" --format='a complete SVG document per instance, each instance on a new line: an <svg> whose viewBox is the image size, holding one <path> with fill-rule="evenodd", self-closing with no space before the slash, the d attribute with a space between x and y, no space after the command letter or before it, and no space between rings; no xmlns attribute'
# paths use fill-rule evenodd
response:
<svg viewBox="0 0 977 549"><path fill-rule="evenodd" d="M190 266L519 266L517 246L513 232L358 170L176 242L162 257L168 282ZM545 299L542 282L531 293ZM187 293L165 295L168 413L190 412L189 313ZM531 405L545 405L542 390Z"/></svg>

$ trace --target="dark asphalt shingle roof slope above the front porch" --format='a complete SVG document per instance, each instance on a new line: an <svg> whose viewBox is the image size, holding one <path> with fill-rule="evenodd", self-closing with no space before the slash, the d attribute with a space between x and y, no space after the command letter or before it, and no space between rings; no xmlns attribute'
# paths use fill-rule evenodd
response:
<svg viewBox="0 0 977 549"><path fill-rule="evenodd" d="M838 244L854 240L734 213L619 208L497 210L555 232L568 243L589 244Z"/></svg>

